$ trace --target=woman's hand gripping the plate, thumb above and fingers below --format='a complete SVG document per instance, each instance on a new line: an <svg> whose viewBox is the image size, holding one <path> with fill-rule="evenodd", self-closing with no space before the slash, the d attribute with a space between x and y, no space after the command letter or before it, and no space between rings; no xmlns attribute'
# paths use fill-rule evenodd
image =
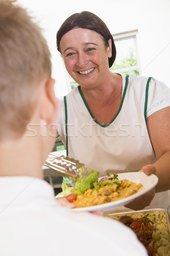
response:
<svg viewBox="0 0 170 256"><path fill-rule="evenodd" d="M144 172L146 175L155 174L156 175L156 168L153 165L143 166L139 172ZM140 196L139 198L134 199L129 204L126 204L125 207L133 209L133 210L142 210L144 207L150 205L153 197L155 195L155 187L145 193L144 195Z"/></svg>

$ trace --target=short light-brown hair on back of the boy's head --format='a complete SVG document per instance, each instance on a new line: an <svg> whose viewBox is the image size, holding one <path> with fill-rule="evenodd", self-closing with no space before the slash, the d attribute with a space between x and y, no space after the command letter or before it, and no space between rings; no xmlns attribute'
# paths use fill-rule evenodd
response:
<svg viewBox="0 0 170 256"><path fill-rule="evenodd" d="M16 1L0 0L0 141L26 131L41 81L51 77L50 57L26 10Z"/></svg>

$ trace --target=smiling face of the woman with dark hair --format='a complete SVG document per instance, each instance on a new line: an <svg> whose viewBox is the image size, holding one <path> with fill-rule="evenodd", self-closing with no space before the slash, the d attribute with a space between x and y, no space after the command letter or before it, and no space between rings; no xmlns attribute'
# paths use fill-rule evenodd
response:
<svg viewBox="0 0 170 256"><path fill-rule="evenodd" d="M70 76L82 87L95 88L108 76L108 57L111 58L111 39L106 48L98 33L75 28L62 36L60 49Z"/></svg>

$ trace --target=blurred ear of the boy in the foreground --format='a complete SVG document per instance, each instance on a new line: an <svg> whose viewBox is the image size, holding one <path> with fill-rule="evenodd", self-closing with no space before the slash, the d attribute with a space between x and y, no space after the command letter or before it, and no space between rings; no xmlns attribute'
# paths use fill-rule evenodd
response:
<svg viewBox="0 0 170 256"><path fill-rule="evenodd" d="M54 93L55 80L50 78L45 82L45 89L41 100L40 118L47 124L56 122L58 104Z"/></svg>

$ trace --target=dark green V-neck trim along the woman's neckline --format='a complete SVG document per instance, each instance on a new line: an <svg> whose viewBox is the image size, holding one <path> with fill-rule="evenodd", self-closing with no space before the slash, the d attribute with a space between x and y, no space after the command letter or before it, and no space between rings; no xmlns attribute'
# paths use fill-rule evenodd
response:
<svg viewBox="0 0 170 256"><path fill-rule="evenodd" d="M108 126L116 119L116 117L119 115L119 113L120 113L120 111L121 111L121 109L122 109L122 105L123 105L124 99L125 99L128 81L129 81L129 75L126 75L126 83L125 83L125 88L124 88L124 91L123 91L122 101L121 101L119 110L117 111L116 115L115 115L114 118L111 120L111 122L109 122L107 125L102 125L102 124L100 124L99 122L97 122L97 120L94 118L93 114L91 113L90 108L88 107L88 104L87 104L87 102L86 102L86 100L85 100L85 97L84 97L84 95L83 95L83 93L82 93L82 90L81 90L80 85L77 86L77 87L78 87L78 90L79 90L79 93L80 93L80 96L82 97L82 100L83 100L83 102L84 102L84 104L85 104L85 106L86 106L88 112L90 113L92 119L94 120L94 122L96 122L96 124L100 125L101 127L108 127Z"/></svg>

